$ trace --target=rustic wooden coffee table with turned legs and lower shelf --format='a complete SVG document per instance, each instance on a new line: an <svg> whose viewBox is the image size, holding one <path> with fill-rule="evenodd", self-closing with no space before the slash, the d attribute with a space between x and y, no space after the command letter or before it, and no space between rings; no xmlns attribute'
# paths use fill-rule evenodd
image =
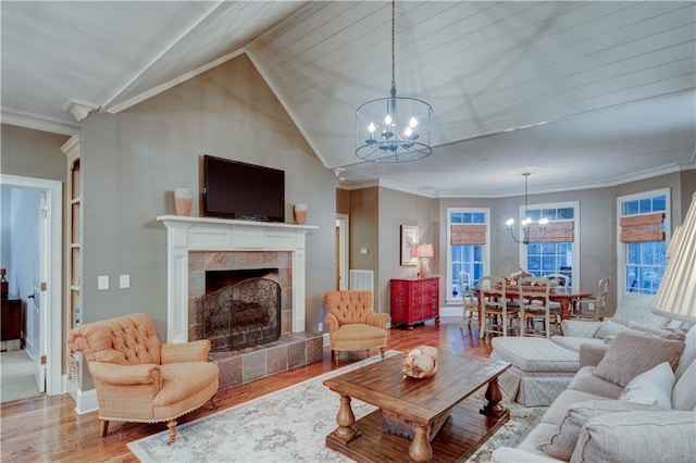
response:
<svg viewBox="0 0 696 463"><path fill-rule="evenodd" d="M394 355L324 380L340 396L326 447L359 462L464 461L509 420L498 388L509 363L440 353L425 379L402 378L402 363ZM469 397L486 385L485 404ZM380 410L356 422L353 398Z"/></svg>

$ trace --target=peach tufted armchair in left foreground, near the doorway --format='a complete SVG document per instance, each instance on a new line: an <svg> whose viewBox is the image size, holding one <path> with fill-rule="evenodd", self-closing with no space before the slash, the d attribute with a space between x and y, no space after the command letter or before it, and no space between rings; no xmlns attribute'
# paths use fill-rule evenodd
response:
<svg viewBox="0 0 696 463"><path fill-rule="evenodd" d="M97 389L99 435L110 421L166 422L170 443L176 418L217 391L217 366L209 363L209 340L162 343L142 313L77 326L67 345L84 352Z"/></svg>

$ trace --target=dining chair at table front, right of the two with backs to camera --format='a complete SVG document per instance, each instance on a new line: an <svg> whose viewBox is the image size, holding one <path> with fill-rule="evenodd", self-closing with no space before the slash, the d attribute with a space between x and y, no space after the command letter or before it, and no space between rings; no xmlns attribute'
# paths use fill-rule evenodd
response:
<svg viewBox="0 0 696 463"><path fill-rule="evenodd" d="M560 313L552 313L550 304L551 280L526 277L518 281L520 291L520 318L522 336L551 337L551 316L560 326ZM543 334L537 333L536 322L544 324Z"/></svg>

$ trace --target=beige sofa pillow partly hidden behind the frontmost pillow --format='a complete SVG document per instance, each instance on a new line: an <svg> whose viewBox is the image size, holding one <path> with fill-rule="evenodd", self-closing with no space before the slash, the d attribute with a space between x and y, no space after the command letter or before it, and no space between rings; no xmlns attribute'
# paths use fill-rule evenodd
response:
<svg viewBox="0 0 696 463"><path fill-rule="evenodd" d="M571 404L561 421L542 439L537 449L561 460L570 460L585 422L594 416L636 410L659 410L644 403L618 400L587 400Z"/></svg>

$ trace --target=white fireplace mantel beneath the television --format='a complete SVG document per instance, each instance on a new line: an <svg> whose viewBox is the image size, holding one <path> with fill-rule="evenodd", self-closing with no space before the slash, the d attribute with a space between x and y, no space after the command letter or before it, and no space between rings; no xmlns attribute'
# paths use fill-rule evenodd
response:
<svg viewBox="0 0 696 463"><path fill-rule="evenodd" d="M293 255L293 333L304 331L304 241L314 225L160 215L166 226L166 337L188 341L189 251L287 251Z"/></svg>

